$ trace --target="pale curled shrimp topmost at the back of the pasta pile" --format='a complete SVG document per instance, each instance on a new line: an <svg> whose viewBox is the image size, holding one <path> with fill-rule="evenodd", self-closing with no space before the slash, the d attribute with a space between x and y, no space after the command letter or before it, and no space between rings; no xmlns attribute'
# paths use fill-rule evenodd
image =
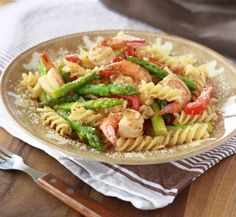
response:
<svg viewBox="0 0 236 217"><path fill-rule="evenodd" d="M144 39L118 34L115 37L105 37L95 43L89 50L88 59L96 65L107 65L112 59L116 57L115 50L119 50L124 46L139 47L146 43Z"/></svg>

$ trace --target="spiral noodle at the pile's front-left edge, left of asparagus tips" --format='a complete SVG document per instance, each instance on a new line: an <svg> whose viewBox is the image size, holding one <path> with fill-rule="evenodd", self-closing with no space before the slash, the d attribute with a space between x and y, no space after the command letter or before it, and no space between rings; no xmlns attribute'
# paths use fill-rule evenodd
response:
<svg viewBox="0 0 236 217"><path fill-rule="evenodd" d="M45 106L44 108L38 108L37 111L42 113L41 118L45 126L55 129L61 136L71 135L72 129L69 123L53 109Z"/></svg>

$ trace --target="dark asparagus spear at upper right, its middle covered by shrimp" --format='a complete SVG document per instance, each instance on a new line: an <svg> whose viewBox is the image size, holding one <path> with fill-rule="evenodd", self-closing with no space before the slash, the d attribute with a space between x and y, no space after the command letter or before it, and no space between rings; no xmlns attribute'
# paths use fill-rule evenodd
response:
<svg viewBox="0 0 236 217"><path fill-rule="evenodd" d="M128 56L127 59L134 63L139 64L140 66L142 66L143 68L148 70L151 74L153 74L154 76L158 77L161 80L169 75L169 72L167 72L165 69L161 69L155 64L149 63L146 60L142 60L132 56ZM197 85L193 81L182 76L178 76L178 78L186 84L189 90L195 90L197 88Z"/></svg>

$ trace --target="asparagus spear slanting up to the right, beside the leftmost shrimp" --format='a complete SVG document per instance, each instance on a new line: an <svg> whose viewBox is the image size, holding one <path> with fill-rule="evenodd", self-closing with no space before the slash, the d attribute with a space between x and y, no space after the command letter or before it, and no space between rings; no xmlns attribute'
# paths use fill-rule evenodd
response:
<svg viewBox="0 0 236 217"><path fill-rule="evenodd" d="M53 98L59 98L61 96L66 95L69 91L74 90L75 88L81 87L84 84L88 83L89 81L92 81L97 78L99 78L99 75L97 74L96 71L93 71L89 74L86 74L83 77L78 78L75 81L69 82L55 89L51 95Z"/></svg>

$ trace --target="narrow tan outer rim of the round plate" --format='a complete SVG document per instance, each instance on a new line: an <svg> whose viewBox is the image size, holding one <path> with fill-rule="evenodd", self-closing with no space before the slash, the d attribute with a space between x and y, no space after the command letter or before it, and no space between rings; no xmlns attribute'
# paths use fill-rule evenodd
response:
<svg viewBox="0 0 236 217"><path fill-rule="evenodd" d="M12 124L14 124L15 126L17 126L17 130L20 130L21 132L30 135L31 137L33 137L34 140L36 140L39 143L42 143L43 145L47 146L50 149L55 149L57 151L61 151L63 153L69 154L71 156L77 156L77 157L81 157L81 158L85 158L88 160L93 160L93 161L99 161L99 162L106 162L106 163L115 163L115 164L120 164L120 165L147 165L147 164L159 164L159 163L167 163L167 162L171 162L171 161L176 161L176 160L182 160L182 159L186 159L188 157L191 156L195 156L201 153L205 153L209 150L212 150L214 148L216 148L217 146L223 145L227 140L229 140L230 138L232 138L233 136L236 135L236 128L227 136L225 136L224 138L213 142L211 145L208 145L206 147L202 147L199 148L197 151L196 150L189 150L188 153L185 153L181 156L173 156L170 155L168 157L165 157L164 159L156 159L156 158L145 158L143 161L142 159L131 159L128 158L126 160L128 160L129 162L124 162L126 161L123 157L121 159L119 158L112 158L109 156L106 156L106 153L99 153L96 155L94 155L94 152L91 151L81 151L80 154L75 154L72 153L66 149L63 149L61 147L56 146L55 144L53 144L52 142L49 141L45 141L43 139L40 139L39 137L35 136L33 133L29 132L27 130L26 127L24 127L22 124L20 124L18 121L16 121L14 119L14 117L11 115L11 112L8 110L7 107L7 102L6 102L6 97L4 98L4 90L3 90L3 81L4 81L4 77L7 74L8 68L15 62L17 61L18 58L20 58L22 55L24 55L25 53L30 52L31 50L34 50L37 47L41 47L47 44L50 44L53 41L57 41L57 40L63 40L66 38L71 38L71 37L76 37L76 36L83 36L83 35L99 35L99 34L103 34L103 33L117 33L119 31L125 31L125 32L129 32L132 34L146 34L146 35L155 35L156 37L167 37L167 38L172 38L174 40L178 40L181 42L185 42L191 45L194 45L194 47L200 48L203 51L206 51L207 53L210 53L212 57L217 59L220 59L224 64L226 64L232 72L235 73L236 75L236 68L230 63L229 60L227 60L224 56L222 56L221 54L219 54L218 52L212 50L211 48L206 47L205 45L199 44L197 42L191 41L189 39L185 39L179 36L175 36L175 35L171 35L171 34L166 34L163 32L154 32L154 31L141 31L141 30L133 30L133 29L109 29L109 30L95 30L95 31L84 31L84 32L78 32L78 33L72 33L72 34L66 34L66 35L62 35L59 37L54 37L54 38L50 38L46 41L42 41L40 43L37 43L25 50L23 50L22 52L20 52L19 54L17 54L7 65L6 67L4 67L2 73L1 73L1 77L0 77L0 104L2 105L4 114L8 116L9 120L11 120ZM168 40L168 39L167 39ZM198 145L201 146L201 145ZM38 147L40 149L40 147ZM91 156L90 156L91 155ZM95 157L94 157L95 156ZM132 161L132 162L131 162Z"/></svg>

